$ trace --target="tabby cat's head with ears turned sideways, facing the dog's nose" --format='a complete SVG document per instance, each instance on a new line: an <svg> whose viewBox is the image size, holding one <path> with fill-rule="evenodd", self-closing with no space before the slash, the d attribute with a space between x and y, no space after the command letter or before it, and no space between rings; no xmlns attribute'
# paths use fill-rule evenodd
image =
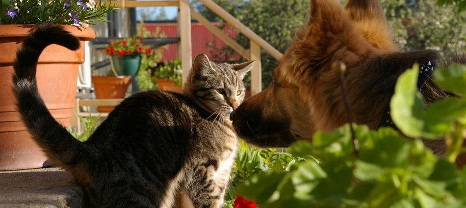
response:
<svg viewBox="0 0 466 208"><path fill-rule="evenodd" d="M253 63L215 63L209 61L206 54L199 54L194 59L183 93L207 112L228 117L244 99L243 78Z"/></svg>

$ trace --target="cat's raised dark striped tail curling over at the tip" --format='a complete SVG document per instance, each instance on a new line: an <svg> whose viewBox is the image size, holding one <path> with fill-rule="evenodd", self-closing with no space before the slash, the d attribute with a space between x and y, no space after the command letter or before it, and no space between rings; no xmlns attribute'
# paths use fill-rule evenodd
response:
<svg viewBox="0 0 466 208"><path fill-rule="evenodd" d="M13 92L18 111L32 138L52 162L58 162L67 168L83 159L83 155L88 153L88 148L55 121L39 95L36 83L37 61L44 48L51 44L65 46L71 50L79 48L78 39L63 27L52 24L38 26L26 37L16 53Z"/></svg>

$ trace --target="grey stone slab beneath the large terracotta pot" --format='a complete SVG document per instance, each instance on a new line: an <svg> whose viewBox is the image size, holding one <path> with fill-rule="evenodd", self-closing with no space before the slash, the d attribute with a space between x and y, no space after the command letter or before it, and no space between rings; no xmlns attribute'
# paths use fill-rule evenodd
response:
<svg viewBox="0 0 466 208"><path fill-rule="evenodd" d="M58 168L0 171L0 208L81 208L82 196Z"/></svg>

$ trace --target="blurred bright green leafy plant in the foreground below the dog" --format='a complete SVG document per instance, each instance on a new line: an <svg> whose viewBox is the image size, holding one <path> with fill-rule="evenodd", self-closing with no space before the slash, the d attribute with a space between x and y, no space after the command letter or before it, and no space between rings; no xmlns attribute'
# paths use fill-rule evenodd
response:
<svg viewBox="0 0 466 208"><path fill-rule="evenodd" d="M420 139L406 139L391 128L373 131L356 125L360 149L354 154L347 124L289 148L294 157L317 160L295 162L289 172L251 176L237 187L239 194L260 208L465 207L466 168L459 170L453 162L466 133L466 98L446 98L425 108L416 89L417 74L414 66L400 76L391 100L393 121L404 135L444 137L446 157L435 156ZM438 69L434 77L439 86L463 95L465 66Z"/></svg>

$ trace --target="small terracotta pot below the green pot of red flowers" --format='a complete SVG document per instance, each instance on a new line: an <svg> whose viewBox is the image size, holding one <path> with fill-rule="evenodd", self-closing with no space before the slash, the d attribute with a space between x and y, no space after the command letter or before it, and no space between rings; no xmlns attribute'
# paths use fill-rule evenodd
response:
<svg viewBox="0 0 466 208"><path fill-rule="evenodd" d="M128 86L131 83L130 76L92 76L94 92L97 99L125 98ZM114 106L99 106L97 110L102 113L110 112Z"/></svg>

